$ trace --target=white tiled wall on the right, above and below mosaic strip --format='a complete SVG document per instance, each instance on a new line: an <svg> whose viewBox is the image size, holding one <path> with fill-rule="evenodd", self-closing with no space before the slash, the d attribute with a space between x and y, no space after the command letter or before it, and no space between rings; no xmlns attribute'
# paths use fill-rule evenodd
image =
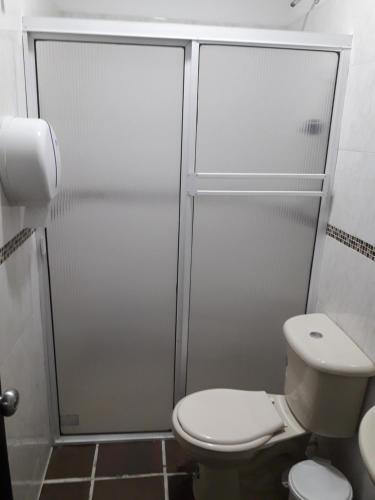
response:
<svg viewBox="0 0 375 500"><path fill-rule="evenodd" d="M353 33L330 223L375 245L375 4L326 0L310 31ZM375 262L327 238L318 310L326 312L375 362ZM375 404L375 381L365 408ZM354 484L357 500L375 498L357 439L334 445L334 457Z"/></svg>

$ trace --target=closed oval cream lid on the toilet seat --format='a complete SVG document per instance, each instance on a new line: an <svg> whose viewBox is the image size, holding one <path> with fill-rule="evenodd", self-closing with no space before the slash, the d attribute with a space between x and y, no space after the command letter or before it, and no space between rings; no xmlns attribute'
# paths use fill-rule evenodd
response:
<svg viewBox="0 0 375 500"><path fill-rule="evenodd" d="M284 427L272 401L263 391L210 389L196 392L181 401L177 418L190 436L215 444L243 444L267 436L270 439Z"/></svg>

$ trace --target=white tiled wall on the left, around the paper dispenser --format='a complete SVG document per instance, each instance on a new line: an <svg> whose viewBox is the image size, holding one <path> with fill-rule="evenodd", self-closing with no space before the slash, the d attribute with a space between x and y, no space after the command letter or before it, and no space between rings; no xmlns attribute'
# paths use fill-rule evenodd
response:
<svg viewBox="0 0 375 500"><path fill-rule="evenodd" d="M0 117L26 115L21 15L52 12L46 0L0 3ZM0 247L22 228L22 210L9 207L0 188ZM0 377L3 389L21 395L6 419L15 500L37 498L50 449L38 265L34 236L0 265Z"/></svg>

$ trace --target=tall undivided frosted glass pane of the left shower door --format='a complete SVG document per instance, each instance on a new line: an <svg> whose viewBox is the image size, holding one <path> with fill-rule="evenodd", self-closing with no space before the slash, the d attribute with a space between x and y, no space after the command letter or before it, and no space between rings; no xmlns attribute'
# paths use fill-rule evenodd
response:
<svg viewBox="0 0 375 500"><path fill-rule="evenodd" d="M170 427L184 51L37 43L63 163L48 249L62 431Z"/></svg>

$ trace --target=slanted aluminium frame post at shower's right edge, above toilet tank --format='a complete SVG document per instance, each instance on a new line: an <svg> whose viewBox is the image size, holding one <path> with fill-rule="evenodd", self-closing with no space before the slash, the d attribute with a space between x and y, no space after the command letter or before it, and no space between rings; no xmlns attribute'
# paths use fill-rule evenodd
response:
<svg viewBox="0 0 375 500"><path fill-rule="evenodd" d="M318 304L320 273L323 260L324 244L326 241L326 229L332 204L332 185L335 176L337 156L339 152L341 120L344 110L349 65L350 50L342 50L339 54L339 65L337 70L336 88L331 118L331 131L328 141L325 170L327 177L324 182L325 196L323 196L320 206L314 256L311 267L310 287L306 306L306 312L308 313L315 312Z"/></svg>

